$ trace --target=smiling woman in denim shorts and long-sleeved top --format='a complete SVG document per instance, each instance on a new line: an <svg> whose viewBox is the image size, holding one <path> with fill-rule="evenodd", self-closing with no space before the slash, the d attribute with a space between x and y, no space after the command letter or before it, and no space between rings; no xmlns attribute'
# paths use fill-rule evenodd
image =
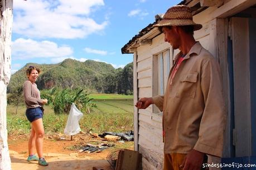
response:
<svg viewBox="0 0 256 170"><path fill-rule="evenodd" d="M40 73L40 69L35 66L30 66L26 70L28 80L24 83L23 92L25 103L27 106L26 116L31 122L31 134L28 141L28 158L27 161L38 161L41 166L47 166L48 163L43 157L43 139L44 126L42 123L43 108L47 99L40 98L40 91L37 89L36 79ZM35 151L38 157L35 155Z"/></svg>

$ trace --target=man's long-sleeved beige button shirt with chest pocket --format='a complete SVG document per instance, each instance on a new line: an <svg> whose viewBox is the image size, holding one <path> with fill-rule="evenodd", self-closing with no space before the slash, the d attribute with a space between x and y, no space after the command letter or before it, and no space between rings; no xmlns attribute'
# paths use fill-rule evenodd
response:
<svg viewBox="0 0 256 170"><path fill-rule="evenodd" d="M180 55L175 57L175 64ZM169 76L165 96L153 97L163 111L165 153L195 149L222 156L226 114L220 75L218 62L197 42L184 57L171 85Z"/></svg>

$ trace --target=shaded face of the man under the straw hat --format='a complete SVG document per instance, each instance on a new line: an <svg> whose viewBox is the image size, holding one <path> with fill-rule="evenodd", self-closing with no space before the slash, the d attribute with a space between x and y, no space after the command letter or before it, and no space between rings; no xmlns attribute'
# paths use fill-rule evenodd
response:
<svg viewBox="0 0 256 170"><path fill-rule="evenodd" d="M165 34L165 42L170 43L173 49L178 49L180 36L177 33L177 27L162 27L162 32Z"/></svg>

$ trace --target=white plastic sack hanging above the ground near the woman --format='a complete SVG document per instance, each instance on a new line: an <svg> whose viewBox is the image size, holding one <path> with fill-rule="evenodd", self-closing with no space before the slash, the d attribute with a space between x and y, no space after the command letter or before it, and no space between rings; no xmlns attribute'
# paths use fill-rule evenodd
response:
<svg viewBox="0 0 256 170"><path fill-rule="evenodd" d="M67 124L64 129L64 133L66 135L74 135L81 131L79 126L79 120L83 116L83 113L79 111L78 108L75 107L75 104L72 103L70 111L69 111L69 117L67 118Z"/></svg>

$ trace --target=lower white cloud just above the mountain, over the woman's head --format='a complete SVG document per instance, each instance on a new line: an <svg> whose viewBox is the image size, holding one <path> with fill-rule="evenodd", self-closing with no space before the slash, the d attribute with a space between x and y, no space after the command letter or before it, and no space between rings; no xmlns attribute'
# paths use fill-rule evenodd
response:
<svg viewBox="0 0 256 170"><path fill-rule="evenodd" d="M73 54L69 46L58 46L55 42L18 38L12 42L12 56L16 59L60 58Z"/></svg>

